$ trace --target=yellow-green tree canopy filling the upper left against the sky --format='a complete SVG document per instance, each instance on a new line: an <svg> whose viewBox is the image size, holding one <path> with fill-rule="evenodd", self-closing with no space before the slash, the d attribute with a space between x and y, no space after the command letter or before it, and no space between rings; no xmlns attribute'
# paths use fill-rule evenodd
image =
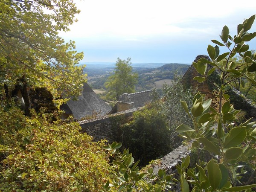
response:
<svg viewBox="0 0 256 192"><path fill-rule="evenodd" d="M21 85L47 87L55 97L80 93L86 79L75 64L83 53L58 36L77 13L69 0L0 1L0 89L7 97L20 79Z"/></svg>

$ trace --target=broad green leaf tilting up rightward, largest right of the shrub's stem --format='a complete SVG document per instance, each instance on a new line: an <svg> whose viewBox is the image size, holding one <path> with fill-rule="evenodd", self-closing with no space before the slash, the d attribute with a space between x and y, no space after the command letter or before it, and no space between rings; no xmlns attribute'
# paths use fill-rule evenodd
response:
<svg viewBox="0 0 256 192"><path fill-rule="evenodd" d="M229 131L224 142L224 148L236 147L246 137L246 127L234 127Z"/></svg>

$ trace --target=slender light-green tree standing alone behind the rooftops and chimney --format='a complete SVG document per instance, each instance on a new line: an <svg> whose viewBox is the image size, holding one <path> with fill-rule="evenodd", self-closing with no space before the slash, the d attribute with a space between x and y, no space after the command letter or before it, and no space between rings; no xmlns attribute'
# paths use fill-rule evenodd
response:
<svg viewBox="0 0 256 192"><path fill-rule="evenodd" d="M138 74L132 72L131 58L127 58L127 60L117 58L114 74L105 83L108 97L118 99L122 93L134 93L137 80Z"/></svg>

